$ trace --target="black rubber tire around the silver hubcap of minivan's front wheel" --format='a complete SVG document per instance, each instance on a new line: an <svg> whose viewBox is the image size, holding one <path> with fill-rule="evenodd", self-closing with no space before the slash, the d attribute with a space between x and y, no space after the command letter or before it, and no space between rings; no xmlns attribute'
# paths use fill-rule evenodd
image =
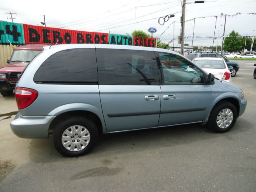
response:
<svg viewBox="0 0 256 192"><path fill-rule="evenodd" d="M226 128L220 128L217 124L217 117L218 117L219 113L224 109L229 109L232 111L233 119L229 126L227 126ZM218 118L220 118L220 117L218 117ZM210 128L212 131L214 131L216 133L224 133L224 132L227 132L228 130L230 130L234 126L234 124L236 122L236 118L237 118L237 110L236 110L236 107L232 103L225 102L225 101L219 102L212 109L209 120L207 122L207 126L208 126L208 128Z"/></svg>

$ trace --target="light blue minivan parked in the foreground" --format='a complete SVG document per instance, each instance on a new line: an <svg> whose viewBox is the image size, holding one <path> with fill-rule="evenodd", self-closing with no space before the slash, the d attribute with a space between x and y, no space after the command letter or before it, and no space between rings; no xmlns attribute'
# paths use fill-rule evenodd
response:
<svg viewBox="0 0 256 192"><path fill-rule="evenodd" d="M169 67L169 60L180 63ZM15 97L12 131L53 134L64 156L88 153L99 133L189 123L226 132L247 104L240 88L176 52L107 44L45 47L20 76Z"/></svg>

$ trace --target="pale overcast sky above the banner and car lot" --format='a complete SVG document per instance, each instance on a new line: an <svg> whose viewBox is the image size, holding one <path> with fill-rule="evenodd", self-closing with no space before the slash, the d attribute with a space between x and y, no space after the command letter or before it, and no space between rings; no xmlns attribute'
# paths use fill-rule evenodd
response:
<svg viewBox="0 0 256 192"><path fill-rule="evenodd" d="M9 21L6 12L14 12L14 22L31 25L40 25L45 15L46 26L84 30L89 32L106 32L115 34L131 34L134 30L147 32L154 27L157 32L154 37L160 36L173 22L180 22L182 0L98 0L98 1L35 1L35 0L0 0L0 20ZM204 4L194 4L186 0L185 20L201 16L256 12L256 0L206 0ZM176 13L178 12L178 13ZM164 25L158 24L158 18L174 14ZM144 21L148 20L148 21ZM144 22L142 22L144 21ZM213 36L215 17L198 18L195 20L194 36ZM135 22L139 22L135 24ZM220 26L222 24L222 26ZM194 20L185 23L185 36L193 35ZM175 23L174 37L180 35L180 23ZM218 30L219 29L219 30ZM215 36L222 36L224 18L218 17ZM235 30L244 36L255 35L256 15L237 15L227 17L225 35ZM254 30L255 31L252 31ZM168 42L173 38L173 24L166 30L161 40ZM194 38L194 45L210 46L212 39ZM177 39L174 41L177 44ZM192 44L192 38L185 39L185 43ZM216 46L217 40L214 40ZM221 39L218 40L220 45Z"/></svg>

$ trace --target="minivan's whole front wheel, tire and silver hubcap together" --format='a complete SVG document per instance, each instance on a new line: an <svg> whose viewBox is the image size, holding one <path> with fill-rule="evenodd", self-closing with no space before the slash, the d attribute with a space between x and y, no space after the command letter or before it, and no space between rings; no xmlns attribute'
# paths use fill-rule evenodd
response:
<svg viewBox="0 0 256 192"><path fill-rule="evenodd" d="M236 107L230 102L220 102L212 109L208 128L217 133L227 132L234 126L236 118Z"/></svg>

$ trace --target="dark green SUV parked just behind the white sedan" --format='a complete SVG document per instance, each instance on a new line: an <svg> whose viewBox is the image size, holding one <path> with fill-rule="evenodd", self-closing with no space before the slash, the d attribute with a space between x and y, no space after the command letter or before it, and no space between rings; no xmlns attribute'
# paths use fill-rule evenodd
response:
<svg viewBox="0 0 256 192"><path fill-rule="evenodd" d="M190 59L191 61L194 58L200 58L200 57L216 57L216 58L222 58L226 62L227 66L232 66L233 68L230 70L231 72L231 77L236 76L236 73L238 72L240 66L238 65L237 62L234 61L229 61L227 58L222 56L221 54L217 54L214 52L199 52L199 53L190 53L186 55L186 58Z"/></svg>

